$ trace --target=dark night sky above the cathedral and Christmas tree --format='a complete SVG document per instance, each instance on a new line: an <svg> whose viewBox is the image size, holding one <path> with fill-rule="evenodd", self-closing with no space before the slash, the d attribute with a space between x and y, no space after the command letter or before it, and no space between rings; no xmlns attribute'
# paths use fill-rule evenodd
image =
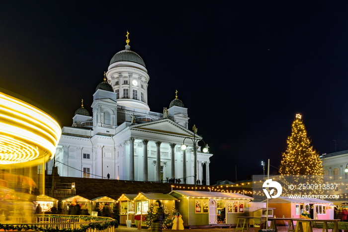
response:
<svg viewBox="0 0 348 232"><path fill-rule="evenodd" d="M347 12L345 1L2 0L0 87L71 126L129 30L151 111L177 89L214 154L211 183L234 181L236 166L240 180L261 160L279 165L296 113L320 154L333 140L348 149Z"/></svg>

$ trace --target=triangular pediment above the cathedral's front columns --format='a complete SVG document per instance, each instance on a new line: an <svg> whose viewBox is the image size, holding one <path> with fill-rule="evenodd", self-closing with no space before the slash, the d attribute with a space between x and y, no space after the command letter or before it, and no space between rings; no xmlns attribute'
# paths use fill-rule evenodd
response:
<svg viewBox="0 0 348 232"><path fill-rule="evenodd" d="M192 131L187 130L186 128L180 126L179 124L173 122L169 119L162 119L148 123L136 124L129 126L131 130L140 130L143 132L157 132L162 134L192 137L194 136ZM197 139L201 137L196 135Z"/></svg>

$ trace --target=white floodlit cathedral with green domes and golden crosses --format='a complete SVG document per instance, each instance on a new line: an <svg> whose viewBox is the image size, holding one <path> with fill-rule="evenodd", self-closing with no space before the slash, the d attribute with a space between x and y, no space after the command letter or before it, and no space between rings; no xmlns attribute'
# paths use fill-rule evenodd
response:
<svg viewBox="0 0 348 232"><path fill-rule="evenodd" d="M150 77L143 59L130 50L116 53L104 81L93 94L92 116L83 107L76 110L71 127L63 127L55 160L60 176L161 181L185 178L194 183L193 138L188 130L187 108L177 98L163 113L150 111ZM185 138L191 139L185 139ZM182 150L185 139L188 149ZM197 143L196 143L197 144ZM209 158L196 151L197 179L209 184Z"/></svg>

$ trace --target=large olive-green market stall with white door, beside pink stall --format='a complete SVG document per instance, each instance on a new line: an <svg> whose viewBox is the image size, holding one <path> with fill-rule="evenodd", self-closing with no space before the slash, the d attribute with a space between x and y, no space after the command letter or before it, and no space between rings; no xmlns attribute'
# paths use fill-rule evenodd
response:
<svg viewBox="0 0 348 232"><path fill-rule="evenodd" d="M253 200L239 193L173 190L170 194L179 200L176 209L188 227L236 225L238 217L246 216L246 208Z"/></svg>

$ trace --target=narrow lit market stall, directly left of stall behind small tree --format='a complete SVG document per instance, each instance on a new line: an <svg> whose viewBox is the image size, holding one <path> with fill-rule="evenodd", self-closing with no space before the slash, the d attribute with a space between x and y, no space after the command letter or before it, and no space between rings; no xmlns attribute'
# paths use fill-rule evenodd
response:
<svg viewBox="0 0 348 232"><path fill-rule="evenodd" d="M138 194L122 194L117 202L120 204L120 225L126 225L126 221L135 224L134 198Z"/></svg>

